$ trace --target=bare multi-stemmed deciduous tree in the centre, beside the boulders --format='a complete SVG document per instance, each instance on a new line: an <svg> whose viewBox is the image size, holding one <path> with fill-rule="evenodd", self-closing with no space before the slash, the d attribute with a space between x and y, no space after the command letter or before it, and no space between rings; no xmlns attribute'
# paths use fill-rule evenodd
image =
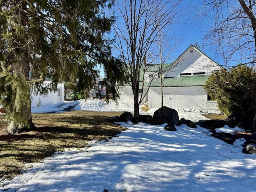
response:
<svg viewBox="0 0 256 192"><path fill-rule="evenodd" d="M158 40L158 32L177 23L181 17L181 0L120 0L117 2L119 18L115 30L117 46L126 63L126 77L134 94L134 119L139 120L139 105L144 94L144 65L152 54L152 45ZM148 64L148 62L147 62Z"/></svg>

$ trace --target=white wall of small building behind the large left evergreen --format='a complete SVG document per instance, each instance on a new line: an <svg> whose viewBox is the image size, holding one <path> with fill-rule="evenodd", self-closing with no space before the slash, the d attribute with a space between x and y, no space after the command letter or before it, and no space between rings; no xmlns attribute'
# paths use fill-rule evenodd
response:
<svg viewBox="0 0 256 192"><path fill-rule="evenodd" d="M50 82L44 82L45 86L47 86ZM57 86L58 91L48 92L47 95L35 95L33 94L34 91L32 90L31 98L32 103L31 107L37 107L39 104L40 106L48 106L52 104L56 104L58 102L64 102L64 83L59 83ZM40 107L39 106L39 107Z"/></svg>

